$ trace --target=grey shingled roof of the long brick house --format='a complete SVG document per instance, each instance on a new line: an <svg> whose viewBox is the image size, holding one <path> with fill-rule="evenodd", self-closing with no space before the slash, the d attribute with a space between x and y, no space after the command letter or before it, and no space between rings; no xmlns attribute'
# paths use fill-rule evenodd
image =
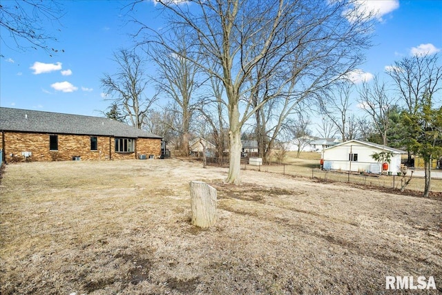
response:
<svg viewBox="0 0 442 295"><path fill-rule="evenodd" d="M106 117L90 117L0 107L0 130L114 137L162 138Z"/></svg>

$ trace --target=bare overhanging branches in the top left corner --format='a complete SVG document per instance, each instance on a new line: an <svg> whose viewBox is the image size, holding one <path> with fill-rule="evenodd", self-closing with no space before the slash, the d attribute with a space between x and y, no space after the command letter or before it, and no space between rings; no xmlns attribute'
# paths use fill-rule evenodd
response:
<svg viewBox="0 0 442 295"><path fill-rule="evenodd" d="M0 27L9 32L9 37L15 43L10 44L5 35L0 39L6 46L19 50L43 49L52 56L59 52L50 47L48 42L57 41L55 35L48 32L48 26L44 24L59 23L63 16L61 3L57 1L21 0L2 1L0 4ZM60 50L64 51L64 50ZM0 53L0 56L1 53Z"/></svg>

